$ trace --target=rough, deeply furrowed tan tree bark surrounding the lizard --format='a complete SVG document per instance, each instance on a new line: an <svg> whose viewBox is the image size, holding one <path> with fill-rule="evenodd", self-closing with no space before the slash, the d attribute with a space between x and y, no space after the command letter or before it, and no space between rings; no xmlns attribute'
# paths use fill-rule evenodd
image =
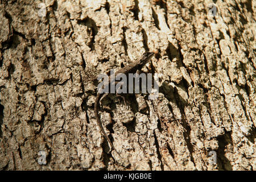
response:
<svg viewBox="0 0 256 182"><path fill-rule="evenodd" d="M256 169L255 1L0 2L0 169ZM119 158L88 80L148 50L158 100L101 100Z"/></svg>

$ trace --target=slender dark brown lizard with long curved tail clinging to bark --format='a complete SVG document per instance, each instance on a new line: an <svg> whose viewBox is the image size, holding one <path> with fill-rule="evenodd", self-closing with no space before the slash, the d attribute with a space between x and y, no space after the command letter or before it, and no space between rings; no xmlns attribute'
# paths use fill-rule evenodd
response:
<svg viewBox="0 0 256 182"><path fill-rule="evenodd" d="M148 61L151 60L151 58L154 56L153 52L145 52L143 53L143 55L137 60L137 61L133 61L132 63L126 65L125 67L119 69L117 72L115 72L115 76L118 75L119 73L123 73L125 75L128 75L129 73L136 73L137 71L140 71L142 69L142 67L148 63ZM110 84L112 83L114 80L111 80L109 78L108 82L106 84ZM100 121L100 117L98 116L98 105L100 105L100 99L101 97L104 95L104 93L97 93L96 96L96 100L94 103L94 115L96 116L96 121L97 121L97 125L98 127L100 127L100 131L101 133L104 135L104 137L106 138L106 140L108 140L108 142L110 143L110 146L117 152L117 154L119 155L118 151L115 149L113 143L110 141L108 135L106 135L104 128L102 126L102 123ZM120 156L120 155L119 155Z"/></svg>

